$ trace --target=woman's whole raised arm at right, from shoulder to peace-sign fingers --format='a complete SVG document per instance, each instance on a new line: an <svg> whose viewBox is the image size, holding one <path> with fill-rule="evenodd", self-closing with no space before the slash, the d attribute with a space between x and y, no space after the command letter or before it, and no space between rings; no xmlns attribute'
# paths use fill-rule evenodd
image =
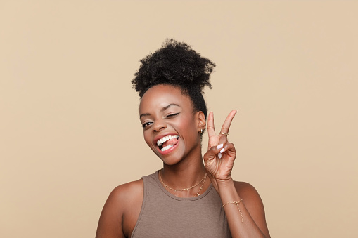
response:
<svg viewBox="0 0 358 238"><path fill-rule="evenodd" d="M205 168L223 204L243 199L237 205L229 203L224 206L231 236L270 237L259 194L252 185L234 182L231 178L236 150L234 144L229 143L226 135L236 112L236 110L232 111L226 118L219 135L215 134L214 116L212 112L209 114L207 119L209 146L204 155Z"/></svg>

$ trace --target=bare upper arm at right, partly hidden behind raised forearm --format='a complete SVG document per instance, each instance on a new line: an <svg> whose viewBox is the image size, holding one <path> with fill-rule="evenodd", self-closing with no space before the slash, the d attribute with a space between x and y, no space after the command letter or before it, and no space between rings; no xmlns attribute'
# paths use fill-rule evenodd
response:
<svg viewBox="0 0 358 238"><path fill-rule="evenodd" d="M241 199L243 199L243 203L250 213L252 220L255 221L257 227L260 228L266 237L270 237L264 213L264 204L255 187L249 183L235 181L235 188Z"/></svg>

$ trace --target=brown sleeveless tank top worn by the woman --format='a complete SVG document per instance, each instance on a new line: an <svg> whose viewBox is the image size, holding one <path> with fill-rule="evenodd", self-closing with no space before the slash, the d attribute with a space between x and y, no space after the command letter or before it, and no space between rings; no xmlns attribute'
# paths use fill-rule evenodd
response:
<svg viewBox="0 0 358 238"><path fill-rule="evenodd" d="M211 184L199 197L182 198L165 190L158 171L142 179L143 204L132 238L231 237L222 201Z"/></svg>

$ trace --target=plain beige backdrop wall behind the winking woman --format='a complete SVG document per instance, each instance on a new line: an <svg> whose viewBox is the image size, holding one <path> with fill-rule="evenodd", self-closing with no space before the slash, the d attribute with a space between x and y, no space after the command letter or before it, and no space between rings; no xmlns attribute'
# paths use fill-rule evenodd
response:
<svg viewBox="0 0 358 238"><path fill-rule="evenodd" d="M167 37L217 63L207 104L217 127L239 110L234 178L260 192L271 236L357 237L357 9L1 1L0 237L94 237L113 187L161 167L130 81Z"/></svg>

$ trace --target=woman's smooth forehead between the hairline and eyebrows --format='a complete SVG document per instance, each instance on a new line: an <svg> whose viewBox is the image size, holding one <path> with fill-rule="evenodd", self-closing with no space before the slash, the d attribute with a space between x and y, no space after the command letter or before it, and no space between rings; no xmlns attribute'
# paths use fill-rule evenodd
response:
<svg viewBox="0 0 358 238"><path fill-rule="evenodd" d="M191 107L191 100L181 92L181 88L165 84L155 85L149 88L141 98L139 112L146 113L146 111L162 108L170 103L180 107Z"/></svg>

